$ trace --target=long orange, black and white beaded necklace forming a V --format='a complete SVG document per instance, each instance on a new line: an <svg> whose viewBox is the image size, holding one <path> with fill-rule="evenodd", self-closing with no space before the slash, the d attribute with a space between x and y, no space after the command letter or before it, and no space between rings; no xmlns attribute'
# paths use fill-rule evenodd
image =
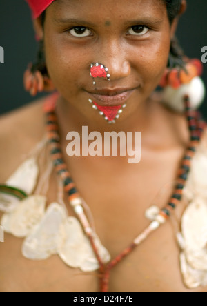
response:
<svg viewBox="0 0 207 306"><path fill-rule="evenodd" d="M54 94L46 99L44 105L44 112L46 114L46 130L48 136L48 143L50 146L50 154L52 156L53 165L58 176L63 181L64 191L68 196L68 202L75 211L75 214L79 218L83 230L88 237L90 244L92 246L93 252L99 262L99 274L100 274L100 292L108 292L109 290L109 280L110 272L113 267L115 267L123 258L130 254L138 245L148 238L150 233L154 232L159 228L160 225L166 223L170 214L177 205L181 202L183 196L183 190L188 179L188 174L190 172L190 165L195 155L197 146L201 140L201 136L206 128L206 122L202 119L201 114L197 111L194 111L190 108L190 101L188 96L184 96L185 103L185 116L188 121L188 129L190 131L190 142L188 144L186 154L181 161L179 171L177 172L177 184L175 190L168 202L168 205L160 210L158 216L155 218L155 221L152 221L150 225L143 231L135 240L124 249L116 258L114 258L110 263L105 264L101 259L99 250L95 237L93 235L92 227L88 222L88 218L83 211L83 202L81 196L75 186L74 181L70 175L70 172L67 169L66 163L63 160L63 153L61 150L60 144L60 135L59 135L59 125L57 120L57 115L55 112L58 94Z"/></svg>

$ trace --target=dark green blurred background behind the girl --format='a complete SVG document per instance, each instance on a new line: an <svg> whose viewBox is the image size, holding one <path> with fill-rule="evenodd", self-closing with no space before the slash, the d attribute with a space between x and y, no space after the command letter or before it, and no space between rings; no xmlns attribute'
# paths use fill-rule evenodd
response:
<svg viewBox="0 0 207 306"><path fill-rule="evenodd" d="M201 48L207 45L206 22L207 1L188 0L188 10L181 18L177 31L188 57L201 58ZM37 43L30 10L24 0L1 0L0 46L5 51L5 63L0 63L0 114L3 114L32 101L23 90L22 76L27 64L35 58ZM203 78L207 85L207 63ZM201 111L207 119L207 99Z"/></svg>

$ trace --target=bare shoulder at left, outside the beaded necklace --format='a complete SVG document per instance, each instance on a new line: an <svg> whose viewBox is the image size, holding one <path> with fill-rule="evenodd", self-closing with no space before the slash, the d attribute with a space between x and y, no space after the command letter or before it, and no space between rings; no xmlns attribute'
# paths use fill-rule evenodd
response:
<svg viewBox="0 0 207 306"><path fill-rule="evenodd" d="M43 100L39 99L23 108L0 116L0 182L23 161L26 154L43 137Z"/></svg>

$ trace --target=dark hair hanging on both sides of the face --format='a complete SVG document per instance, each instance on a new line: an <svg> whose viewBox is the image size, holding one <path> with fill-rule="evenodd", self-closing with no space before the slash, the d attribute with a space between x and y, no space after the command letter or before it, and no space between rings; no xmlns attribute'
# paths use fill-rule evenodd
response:
<svg viewBox="0 0 207 306"><path fill-rule="evenodd" d="M163 0L163 1L166 3L168 19L171 25L174 19L178 17L179 15L182 0ZM43 27L44 27L44 23L46 20L46 11L47 10L45 10L39 17L41 20L41 25ZM32 68L31 68L32 72L39 70L43 75L48 76L48 71L47 71L45 62L46 61L45 61L45 56L44 56L43 41L39 41L39 50L37 52L37 62L32 65ZM184 68L184 52L180 48L176 37L174 37L171 41L170 54L169 54L169 59L168 59L168 68L175 68L175 67Z"/></svg>

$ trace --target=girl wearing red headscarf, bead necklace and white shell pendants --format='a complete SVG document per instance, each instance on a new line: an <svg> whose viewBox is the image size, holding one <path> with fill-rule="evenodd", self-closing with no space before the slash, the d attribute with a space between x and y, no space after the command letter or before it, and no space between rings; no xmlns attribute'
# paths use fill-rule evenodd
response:
<svg viewBox="0 0 207 306"><path fill-rule="evenodd" d="M28 3L40 51L26 90L55 94L0 121L0 291L206 292L204 88L175 43L186 1ZM83 127L103 145L141 132L141 161L68 156Z"/></svg>

